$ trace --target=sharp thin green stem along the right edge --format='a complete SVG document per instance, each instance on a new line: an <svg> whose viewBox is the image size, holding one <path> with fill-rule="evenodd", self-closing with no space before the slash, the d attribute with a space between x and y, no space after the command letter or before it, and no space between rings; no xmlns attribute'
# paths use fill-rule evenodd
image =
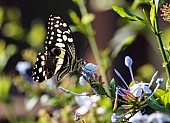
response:
<svg viewBox="0 0 170 123"><path fill-rule="evenodd" d="M155 14L155 15L156 15L155 34L156 34L159 49L160 49L160 52L161 52L161 55L162 55L163 65L165 66L165 71L166 71L166 74L167 74L167 77L168 77L166 85L170 85L170 81L169 81L170 80L170 66L168 64L168 59L167 59L167 56L166 56L166 53L165 53L165 50L164 50L164 45L163 45L163 42L162 42L161 33L159 31L158 17L157 17L157 14Z"/></svg>

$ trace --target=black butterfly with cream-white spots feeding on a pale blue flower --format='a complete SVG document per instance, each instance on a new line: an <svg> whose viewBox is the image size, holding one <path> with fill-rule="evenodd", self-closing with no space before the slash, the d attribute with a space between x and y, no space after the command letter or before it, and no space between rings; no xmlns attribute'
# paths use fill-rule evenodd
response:
<svg viewBox="0 0 170 123"><path fill-rule="evenodd" d="M82 65L83 60L77 60L74 39L68 24L62 17L50 15L45 52L37 55L33 80L43 82L56 74L59 81L67 73L79 70Z"/></svg>

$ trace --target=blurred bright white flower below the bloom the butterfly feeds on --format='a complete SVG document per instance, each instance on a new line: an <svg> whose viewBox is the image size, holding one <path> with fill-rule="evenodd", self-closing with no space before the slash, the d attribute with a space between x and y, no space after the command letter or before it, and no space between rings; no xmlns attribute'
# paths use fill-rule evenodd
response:
<svg viewBox="0 0 170 123"><path fill-rule="evenodd" d="M85 94L86 92L83 92ZM75 96L76 103L80 106L80 108L76 109L76 113L81 115L85 115L92 107L95 107L96 102L100 99L99 96Z"/></svg>

